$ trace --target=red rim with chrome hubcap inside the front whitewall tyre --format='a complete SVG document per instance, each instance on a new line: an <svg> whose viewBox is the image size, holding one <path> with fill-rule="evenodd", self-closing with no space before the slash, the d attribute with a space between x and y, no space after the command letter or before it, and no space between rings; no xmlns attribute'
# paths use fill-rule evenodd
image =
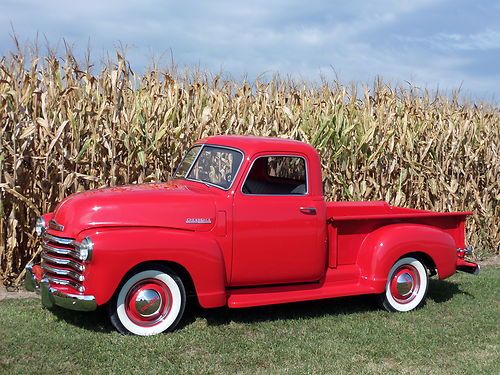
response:
<svg viewBox="0 0 500 375"><path fill-rule="evenodd" d="M129 319L142 327L161 322L172 307L170 288L158 279L144 279L136 283L125 297L125 312Z"/></svg>

